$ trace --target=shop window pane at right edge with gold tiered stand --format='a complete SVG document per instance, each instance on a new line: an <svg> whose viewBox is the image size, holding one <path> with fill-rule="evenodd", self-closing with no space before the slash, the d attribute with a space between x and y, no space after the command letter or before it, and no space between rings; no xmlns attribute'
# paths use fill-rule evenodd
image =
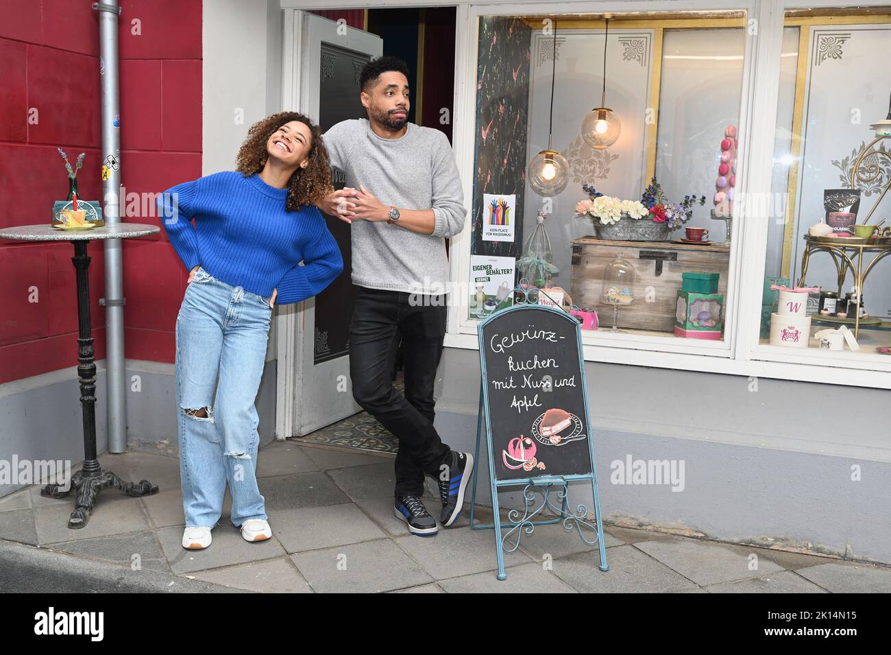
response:
<svg viewBox="0 0 891 655"><path fill-rule="evenodd" d="M884 61L891 7L786 13L761 352L862 364L891 353Z"/></svg>

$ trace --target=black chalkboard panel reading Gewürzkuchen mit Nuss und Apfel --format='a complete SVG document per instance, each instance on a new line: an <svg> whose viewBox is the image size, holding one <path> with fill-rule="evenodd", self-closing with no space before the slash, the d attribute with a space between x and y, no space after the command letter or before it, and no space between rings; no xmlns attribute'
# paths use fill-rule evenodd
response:
<svg viewBox="0 0 891 655"><path fill-rule="evenodd" d="M576 319L513 307L478 332L495 479L592 473Z"/></svg>

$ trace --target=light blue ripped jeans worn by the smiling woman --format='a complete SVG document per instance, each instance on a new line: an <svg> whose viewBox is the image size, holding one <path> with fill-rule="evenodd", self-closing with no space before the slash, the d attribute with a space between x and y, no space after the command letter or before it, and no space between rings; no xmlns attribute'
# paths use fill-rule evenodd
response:
<svg viewBox="0 0 891 655"><path fill-rule="evenodd" d="M272 322L269 300L203 268L186 287L176 317L176 422L186 527L217 524L226 483L233 525L266 519L257 487L254 400Z"/></svg>

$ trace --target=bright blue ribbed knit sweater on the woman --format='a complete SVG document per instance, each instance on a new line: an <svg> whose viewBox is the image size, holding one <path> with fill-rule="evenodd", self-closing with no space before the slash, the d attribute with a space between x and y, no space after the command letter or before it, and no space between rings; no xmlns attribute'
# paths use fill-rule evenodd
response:
<svg viewBox="0 0 891 655"><path fill-rule="evenodd" d="M216 173L164 192L159 218L187 270L200 264L261 296L277 289L275 304L288 305L333 282L343 258L321 212L306 205L285 211L287 197L258 175Z"/></svg>

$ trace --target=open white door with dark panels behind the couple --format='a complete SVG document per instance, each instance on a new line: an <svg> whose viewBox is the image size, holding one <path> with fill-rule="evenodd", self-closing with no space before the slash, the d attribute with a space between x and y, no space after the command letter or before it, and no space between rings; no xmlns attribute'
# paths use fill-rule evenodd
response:
<svg viewBox="0 0 891 655"><path fill-rule="evenodd" d="M323 133L340 120L364 118L359 70L383 53L380 37L296 10L285 12L284 25L284 108L307 114ZM338 171L334 182L344 185ZM315 299L278 310L279 438L302 437L362 409L353 399L347 355L353 309L349 225L327 218L344 256L343 274Z"/></svg>

